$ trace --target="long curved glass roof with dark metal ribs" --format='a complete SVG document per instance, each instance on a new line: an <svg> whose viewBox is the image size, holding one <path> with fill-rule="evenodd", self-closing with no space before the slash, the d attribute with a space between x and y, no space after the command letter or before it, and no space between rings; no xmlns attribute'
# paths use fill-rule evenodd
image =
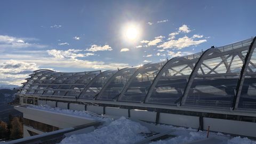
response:
<svg viewBox="0 0 256 144"><path fill-rule="evenodd" d="M255 39L141 67L80 73L36 70L20 94L256 109Z"/></svg>

